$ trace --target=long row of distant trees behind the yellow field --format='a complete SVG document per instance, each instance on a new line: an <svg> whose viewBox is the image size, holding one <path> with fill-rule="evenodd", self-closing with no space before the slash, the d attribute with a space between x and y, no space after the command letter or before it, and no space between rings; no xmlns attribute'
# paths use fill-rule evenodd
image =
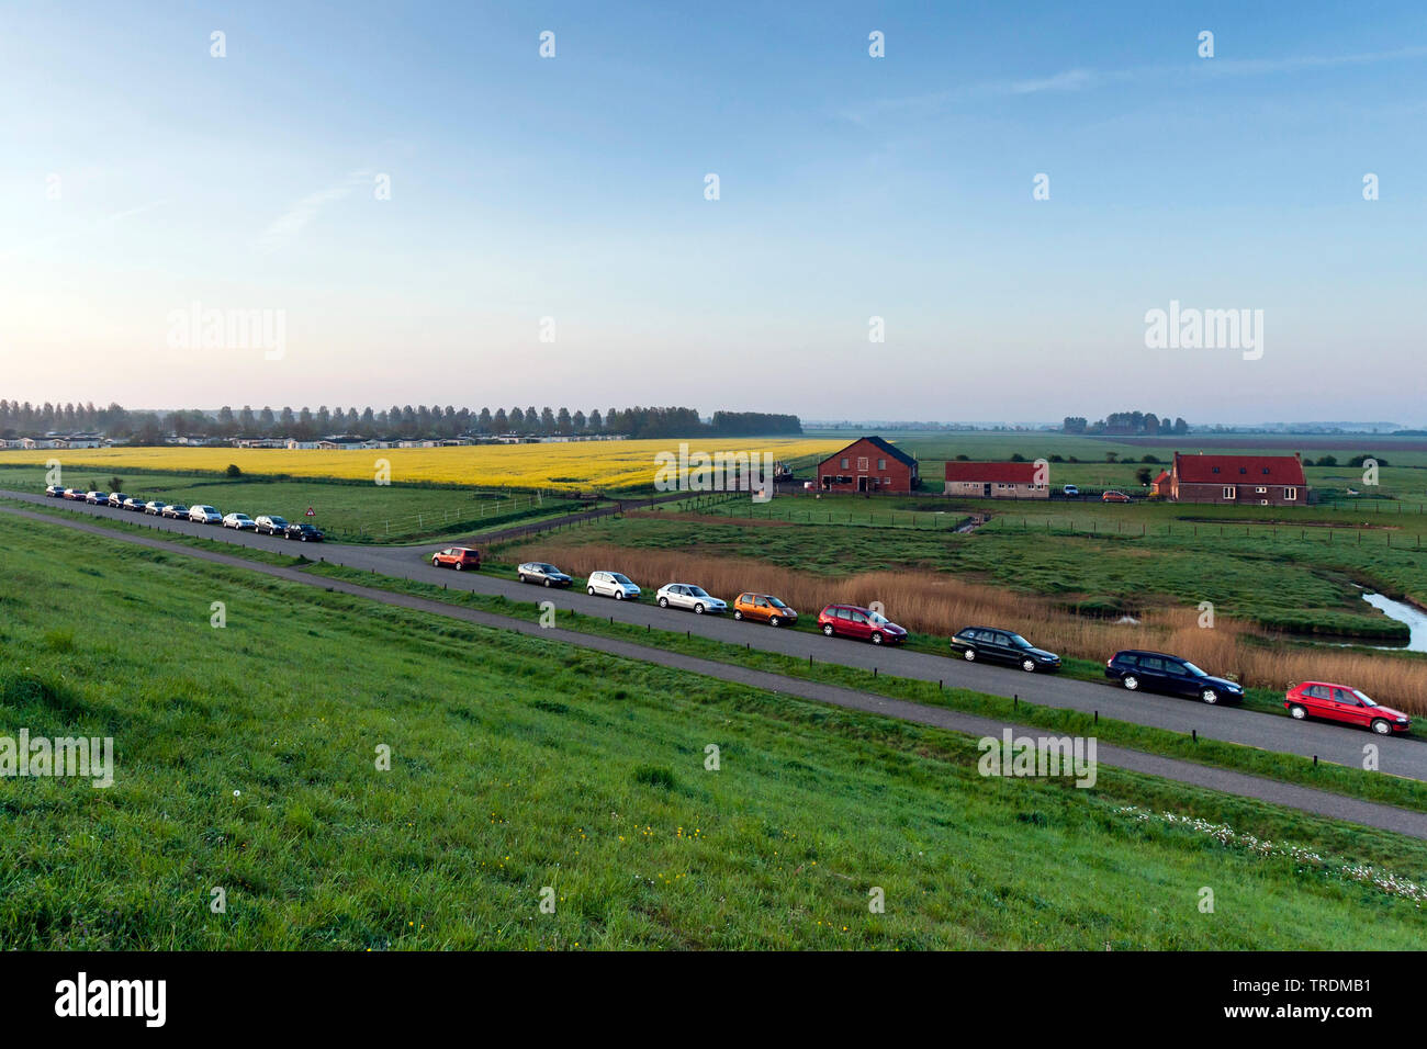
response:
<svg viewBox="0 0 1427 1049"><path fill-rule="evenodd" d="M313 411L268 405L254 410L243 405L234 411L224 405L217 412L198 410L154 412L127 411L117 404L96 408L90 404L30 404L0 400L0 435L43 437L49 432L97 432L136 444L160 444L167 435L220 438L284 438L310 441L334 434L362 438L457 438L518 434L521 437L622 434L626 437L779 437L802 434L796 415L758 411L716 411L709 422L695 408L598 408L588 415L569 408L489 408L474 411L445 405L391 405L328 408Z"/></svg>

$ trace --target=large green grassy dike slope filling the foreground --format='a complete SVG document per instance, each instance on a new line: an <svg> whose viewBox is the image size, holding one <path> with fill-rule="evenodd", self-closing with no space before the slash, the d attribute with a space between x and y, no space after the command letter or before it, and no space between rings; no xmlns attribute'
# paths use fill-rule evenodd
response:
<svg viewBox="0 0 1427 1049"><path fill-rule="evenodd" d="M956 734L39 522L0 518L0 735L113 735L117 762L107 791L0 779L4 948L1410 949L1427 928L1341 871L1424 881L1398 835L1113 769L986 779Z"/></svg>

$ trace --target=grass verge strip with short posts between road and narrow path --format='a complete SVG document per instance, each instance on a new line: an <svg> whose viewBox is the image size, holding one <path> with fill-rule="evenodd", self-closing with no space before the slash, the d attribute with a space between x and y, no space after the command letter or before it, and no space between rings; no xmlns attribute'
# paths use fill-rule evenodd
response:
<svg viewBox="0 0 1427 1049"><path fill-rule="evenodd" d="M812 667L806 661L781 652L755 652L739 648L725 641L712 638L679 635L676 631L641 629L632 624L609 622L598 615L582 615L572 608L558 608L559 591L531 588L531 601L511 601L504 597L474 594L471 591L450 591L434 584L415 582L412 579L397 579L384 575L372 575L355 568L342 568L332 564L311 565L308 572L324 575L332 579L355 582L375 589L387 589L398 594L412 594L432 601L444 601L465 608L477 608L499 615L512 615L535 621L539 618L539 602L555 601L555 622L564 629L574 629L582 634L594 634L606 638L618 638L634 644L649 645L669 652L681 652L715 662L748 667L751 669L785 674L791 678L818 681L828 685L842 685L860 692L885 695L893 699L909 699L929 706L946 706L968 714L979 714L986 718L1000 718L1016 721L1023 725L1036 725L1055 729L1057 734L1095 735L1107 744L1132 746L1150 754L1162 754L1170 758L1184 758L1197 761L1202 765L1236 769L1251 775L1279 779L1303 786L1313 786L1320 791L1363 798L1367 801L1398 805L1401 808L1427 812L1427 784L1416 779L1386 775L1383 772L1367 772L1363 769L1321 762L1314 765L1311 759L1296 754L1277 754L1260 751L1253 746L1229 744L1216 739L1193 741L1180 732L1136 725L1133 722L1116 721L1112 718L1095 719L1093 715L1079 711L1067 711L1059 706L1039 706L1033 702L1012 701L1005 696L987 695L966 688L939 688L930 681L916 681L913 678L899 678L890 674L872 676L865 669L842 667L832 662L815 662ZM482 569L489 571L489 569ZM498 569L497 569L498 571ZM771 629L752 627L749 629ZM930 651L930 649L928 649ZM936 654L942 649L938 648ZM1092 665L1099 669L1097 665ZM1083 675L1099 679L1102 675ZM1035 678L1025 679L1026 688L1035 688ZM1276 711L1281 711L1281 699L1276 704Z"/></svg>

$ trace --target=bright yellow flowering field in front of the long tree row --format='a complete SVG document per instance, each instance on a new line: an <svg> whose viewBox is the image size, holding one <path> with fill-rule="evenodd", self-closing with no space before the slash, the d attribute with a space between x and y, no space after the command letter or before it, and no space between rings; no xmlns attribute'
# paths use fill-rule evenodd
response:
<svg viewBox="0 0 1427 1049"><path fill-rule="evenodd" d="M221 472L228 464L255 477L335 477L370 480L377 461L391 464L395 482L441 482L512 488L634 488L652 485L655 455L678 457L681 441L571 441L559 444L484 444L461 448L374 448L315 451L287 448L74 448L4 450L0 465L43 464L60 460L66 467ZM811 438L708 438L688 441L689 451L769 452L775 460L828 455L846 441Z"/></svg>

